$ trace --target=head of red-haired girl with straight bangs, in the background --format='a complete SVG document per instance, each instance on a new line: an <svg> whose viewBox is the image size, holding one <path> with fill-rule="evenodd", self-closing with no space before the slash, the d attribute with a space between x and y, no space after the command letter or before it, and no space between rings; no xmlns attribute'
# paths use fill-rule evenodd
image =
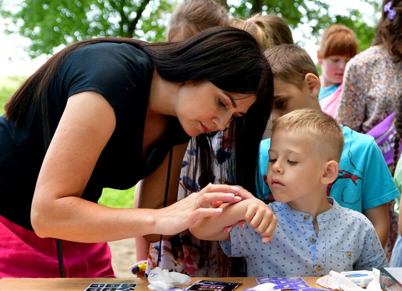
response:
<svg viewBox="0 0 402 291"><path fill-rule="evenodd" d="M342 83L346 63L356 53L357 42L350 28L338 24L328 27L324 31L320 49L317 52L322 69L323 85Z"/></svg>

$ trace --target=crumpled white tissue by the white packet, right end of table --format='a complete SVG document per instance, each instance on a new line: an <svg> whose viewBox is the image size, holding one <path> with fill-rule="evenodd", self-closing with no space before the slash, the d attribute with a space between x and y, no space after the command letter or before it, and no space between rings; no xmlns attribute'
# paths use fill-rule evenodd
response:
<svg viewBox="0 0 402 291"><path fill-rule="evenodd" d="M381 291L380 287L380 271L373 268L373 280L370 281L367 287L364 289L348 278L345 278L340 273L330 271L328 275L319 278L316 283L331 289L338 289L343 291Z"/></svg>

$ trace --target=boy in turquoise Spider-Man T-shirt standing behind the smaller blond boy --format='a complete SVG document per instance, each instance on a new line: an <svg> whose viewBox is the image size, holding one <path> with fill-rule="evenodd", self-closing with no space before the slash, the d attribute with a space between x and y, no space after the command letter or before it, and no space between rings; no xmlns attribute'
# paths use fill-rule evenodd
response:
<svg viewBox="0 0 402 291"><path fill-rule="evenodd" d="M272 121L295 109L321 110L318 94L320 79L315 64L305 50L296 45L280 45L265 52L274 75ZM388 239L387 203L399 197L380 149L370 136L341 126L344 148L339 173L329 184L327 196L341 206L363 213L374 225L384 247ZM268 166L270 139L260 144L257 197L272 201L264 175Z"/></svg>

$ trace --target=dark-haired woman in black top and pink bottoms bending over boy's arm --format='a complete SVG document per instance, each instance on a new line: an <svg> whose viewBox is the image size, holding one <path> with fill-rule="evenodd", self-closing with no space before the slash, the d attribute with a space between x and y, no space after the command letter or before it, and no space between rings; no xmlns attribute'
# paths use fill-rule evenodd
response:
<svg viewBox="0 0 402 291"><path fill-rule="evenodd" d="M219 215L210 203L252 197L242 187L254 190L271 99L258 43L235 28L174 43L91 39L55 54L0 118L0 277L114 276L102 242L176 234ZM206 135L226 127L239 186L208 184L161 208L176 201L190 137L208 165ZM149 209L96 204L104 187L139 180Z"/></svg>

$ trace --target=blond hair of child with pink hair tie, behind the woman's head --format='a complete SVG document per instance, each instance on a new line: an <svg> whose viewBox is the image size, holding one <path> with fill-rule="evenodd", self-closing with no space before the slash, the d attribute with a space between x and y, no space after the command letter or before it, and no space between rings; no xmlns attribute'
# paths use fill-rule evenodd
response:
<svg viewBox="0 0 402 291"><path fill-rule="evenodd" d="M247 20L231 18L229 19L229 24L230 26L243 29L254 36L260 44L262 51L265 51L274 45L270 27L260 21L258 16L254 16Z"/></svg>

